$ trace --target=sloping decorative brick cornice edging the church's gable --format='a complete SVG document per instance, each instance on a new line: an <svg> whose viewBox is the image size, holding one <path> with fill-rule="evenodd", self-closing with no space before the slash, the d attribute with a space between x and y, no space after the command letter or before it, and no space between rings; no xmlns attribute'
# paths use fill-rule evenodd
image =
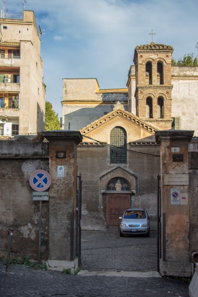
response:
<svg viewBox="0 0 198 297"><path fill-rule="evenodd" d="M100 128L102 125L107 124L108 122L112 121L116 117L120 117L120 118L124 119L125 121L130 122L131 124L147 131L150 135L154 135L155 131L158 131L158 129L156 127L141 120L138 116L134 115L133 113L128 112L124 109L115 108L113 111L103 115L98 120L96 120L96 121L92 122L91 124L89 124L88 126L82 128L80 130L80 132L82 135L86 135L86 134L94 131L95 129Z"/></svg>

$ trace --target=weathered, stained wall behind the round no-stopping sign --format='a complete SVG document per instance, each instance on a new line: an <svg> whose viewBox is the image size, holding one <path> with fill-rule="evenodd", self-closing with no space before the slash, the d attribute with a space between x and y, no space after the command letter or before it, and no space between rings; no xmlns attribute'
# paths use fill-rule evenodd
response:
<svg viewBox="0 0 198 297"><path fill-rule="evenodd" d="M48 143L38 138L0 140L0 254L8 247L13 229L12 255L38 259L39 201L32 201L30 175L38 169L49 171ZM41 258L49 253L49 202L42 202Z"/></svg>

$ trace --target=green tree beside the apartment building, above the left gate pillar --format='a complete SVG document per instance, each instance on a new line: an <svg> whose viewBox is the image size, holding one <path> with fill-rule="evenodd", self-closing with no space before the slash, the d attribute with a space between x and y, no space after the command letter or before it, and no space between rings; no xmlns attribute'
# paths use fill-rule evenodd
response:
<svg viewBox="0 0 198 297"><path fill-rule="evenodd" d="M58 114L52 109L52 104L46 101L45 129L60 130Z"/></svg>

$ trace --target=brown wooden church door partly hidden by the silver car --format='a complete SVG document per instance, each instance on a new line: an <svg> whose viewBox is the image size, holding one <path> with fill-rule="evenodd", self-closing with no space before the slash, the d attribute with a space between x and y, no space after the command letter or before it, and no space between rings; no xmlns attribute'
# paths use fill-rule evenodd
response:
<svg viewBox="0 0 198 297"><path fill-rule="evenodd" d="M106 195L106 224L109 231L118 230L121 221L119 217L130 204L130 194Z"/></svg>

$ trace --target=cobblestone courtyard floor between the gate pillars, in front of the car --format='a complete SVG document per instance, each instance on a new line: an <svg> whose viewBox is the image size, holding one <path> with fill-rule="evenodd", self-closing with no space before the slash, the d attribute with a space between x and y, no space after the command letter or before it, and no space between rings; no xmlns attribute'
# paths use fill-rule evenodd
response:
<svg viewBox="0 0 198 297"><path fill-rule="evenodd" d="M115 231L84 231L81 262L89 271L157 271L157 234L120 237Z"/></svg>

